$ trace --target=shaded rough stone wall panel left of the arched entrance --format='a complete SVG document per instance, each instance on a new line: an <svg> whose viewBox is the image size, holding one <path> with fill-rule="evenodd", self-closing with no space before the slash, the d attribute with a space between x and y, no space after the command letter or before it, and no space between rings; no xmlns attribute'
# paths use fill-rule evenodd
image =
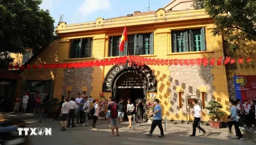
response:
<svg viewBox="0 0 256 145"><path fill-rule="evenodd" d="M77 93L81 92L82 86L87 87L87 92L85 93L87 96L90 96L92 87L91 87L91 74L92 74L93 69L91 67L85 67L85 68L71 68L68 69L66 68L64 70L64 86L62 88L63 94L65 97L67 97L67 91L66 91L66 86L72 86L72 91L70 91L70 98L71 97L76 97Z"/></svg>

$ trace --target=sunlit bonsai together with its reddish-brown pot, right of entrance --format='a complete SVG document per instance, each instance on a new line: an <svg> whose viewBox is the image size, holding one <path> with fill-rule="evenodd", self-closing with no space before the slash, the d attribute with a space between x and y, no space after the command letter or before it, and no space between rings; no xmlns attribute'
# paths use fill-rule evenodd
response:
<svg viewBox="0 0 256 145"><path fill-rule="evenodd" d="M217 101L210 101L208 105L209 106L206 106L205 108L210 111L210 120L208 120L210 127L221 128L223 121L221 121L220 117L224 116L224 112L219 112L219 110L223 108L223 106Z"/></svg>

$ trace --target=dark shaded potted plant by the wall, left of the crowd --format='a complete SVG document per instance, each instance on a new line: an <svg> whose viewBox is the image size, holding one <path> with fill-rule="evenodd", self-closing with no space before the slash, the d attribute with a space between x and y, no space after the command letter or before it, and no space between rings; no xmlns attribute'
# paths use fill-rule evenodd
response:
<svg viewBox="0 0 256 145"><path fill-rule="evenodd" d="M48 117L53 118L58 115L59 110L59 99L52 98L48 106Z"/></svg>

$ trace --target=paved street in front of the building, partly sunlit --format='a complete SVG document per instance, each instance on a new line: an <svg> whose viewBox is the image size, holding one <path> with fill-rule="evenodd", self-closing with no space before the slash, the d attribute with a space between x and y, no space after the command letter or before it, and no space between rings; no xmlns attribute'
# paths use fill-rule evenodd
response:
<svg viewBox="0 0 256 145"><path fill-rule="evenodd" d="M160 130L156 127L153 132L154 137L145 136L149 132L150 125L136 124L136 129L128 129L128 124L120 125L120 136L110 137L111 130L107 128L108 123L104 120L97 121L99 130L91 130L91 126L76 125L75 128L67 128L65 132L60 131L60 123L49 118L44 118L42 123L38 122L38 116L30 116L26 121L31 127L52 127L52 136L30 136L32 145L255 145L255 143L247 138L243 141L236 139L224 138L228 134L228 129L212 129L209 126L202 125L209 132L208 137L199 134L197 131L196 138L190 138L191 126L178 124L168 124L168 131L165 132L165 138L158 138ZM91 123L92 120L89 120ZM234 131L234 130L233 130Z"/></svg>

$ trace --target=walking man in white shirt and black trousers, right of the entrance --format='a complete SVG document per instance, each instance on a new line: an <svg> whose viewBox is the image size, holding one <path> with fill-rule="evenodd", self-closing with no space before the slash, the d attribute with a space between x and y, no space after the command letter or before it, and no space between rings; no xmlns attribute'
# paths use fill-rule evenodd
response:
<svg viewBox="0 0 256 145"><path fill-rule="evenodd" d="M190 111L190 113L194 112L194 122L193 122L193 133L192 135L190 135L190 137L196 137L195 136L196 127L198 127L200 130L204 132L204 136L207 136L208 133L206 133L206 131L202 129L200 126L198 126L198 124L200 123L200 118L203 118L203 117L202 117L201 107L197 104L197 99L194 99L192 104L194 105L194 109Z"/></svg>

